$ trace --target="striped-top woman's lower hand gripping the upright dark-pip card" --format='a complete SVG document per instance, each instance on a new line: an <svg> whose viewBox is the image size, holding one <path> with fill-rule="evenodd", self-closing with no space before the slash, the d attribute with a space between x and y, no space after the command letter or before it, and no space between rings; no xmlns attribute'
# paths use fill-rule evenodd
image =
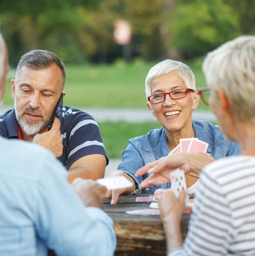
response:
<svg viewBox="0 0 255 256"><path fill-rule="evenodd" d="M155 197L159 200L160 218L164 223L181 222L183 214L191 213L191 207L185 207L186 192L182 190L176 198L171 189L156 190Z"/></svg>

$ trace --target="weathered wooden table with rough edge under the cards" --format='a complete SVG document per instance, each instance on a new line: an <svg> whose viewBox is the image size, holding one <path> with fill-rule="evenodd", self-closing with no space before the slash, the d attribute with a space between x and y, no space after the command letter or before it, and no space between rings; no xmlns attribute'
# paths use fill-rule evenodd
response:
<svg viewBox="0 0 255 256"><path fill-rule="evenodd" d="M133 215L126 211L149 208L151 202L136 202L136 197L120 196L117 205L111 205L110 200L104 201L104 211L114 220L117 235L115 256L165 256L165 235L159 215ZM185 238L187 234L189 215L182 216L181 230Z"/></svg>

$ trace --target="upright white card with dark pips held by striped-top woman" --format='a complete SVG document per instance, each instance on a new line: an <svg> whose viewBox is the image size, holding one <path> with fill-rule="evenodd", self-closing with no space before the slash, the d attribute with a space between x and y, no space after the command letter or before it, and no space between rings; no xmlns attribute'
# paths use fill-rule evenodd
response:
<svg viewBox="0 0 255 256"><path fill-rule="evenodd" d="M178 168L174 171L171 171L169 175L171 180L171 189L175 196L179 197L180 192L183 189L187 189L184 171Z"/></svg>

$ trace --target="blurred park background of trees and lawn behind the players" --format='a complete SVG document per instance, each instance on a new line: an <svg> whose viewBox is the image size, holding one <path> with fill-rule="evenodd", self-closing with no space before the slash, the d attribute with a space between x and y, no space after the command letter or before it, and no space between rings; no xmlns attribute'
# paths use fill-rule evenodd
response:
<svg viewBox="0 0 255 256"><path fill-rule="evenodd" d="M124 113L146 111L145 77L164 59L185 62L197 87L205 87L204 55L255 33L255 1L1 0L0 23L11 66L7 107L13 105L10 79L21 55L47 49L66 63L66 105ZM207 110L202 103L199 109ZM154 119L97 121L111 158L121 157L128 138L159 127Z"/></svg>

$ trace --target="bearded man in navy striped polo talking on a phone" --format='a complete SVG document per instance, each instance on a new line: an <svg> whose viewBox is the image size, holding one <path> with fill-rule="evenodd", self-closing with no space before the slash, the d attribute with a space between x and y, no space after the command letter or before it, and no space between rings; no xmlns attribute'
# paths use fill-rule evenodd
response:
<svg viewBox="0 0 255 256"><path fill-rule="evenodd" d="M99 127L89 114L63 106L48 131L65 79L57 55L46 50L24 54L11 85L15 108L2 116L0 135L50 149L69 170L70 182L77 177L102 178L108 158Z"/></svg>

